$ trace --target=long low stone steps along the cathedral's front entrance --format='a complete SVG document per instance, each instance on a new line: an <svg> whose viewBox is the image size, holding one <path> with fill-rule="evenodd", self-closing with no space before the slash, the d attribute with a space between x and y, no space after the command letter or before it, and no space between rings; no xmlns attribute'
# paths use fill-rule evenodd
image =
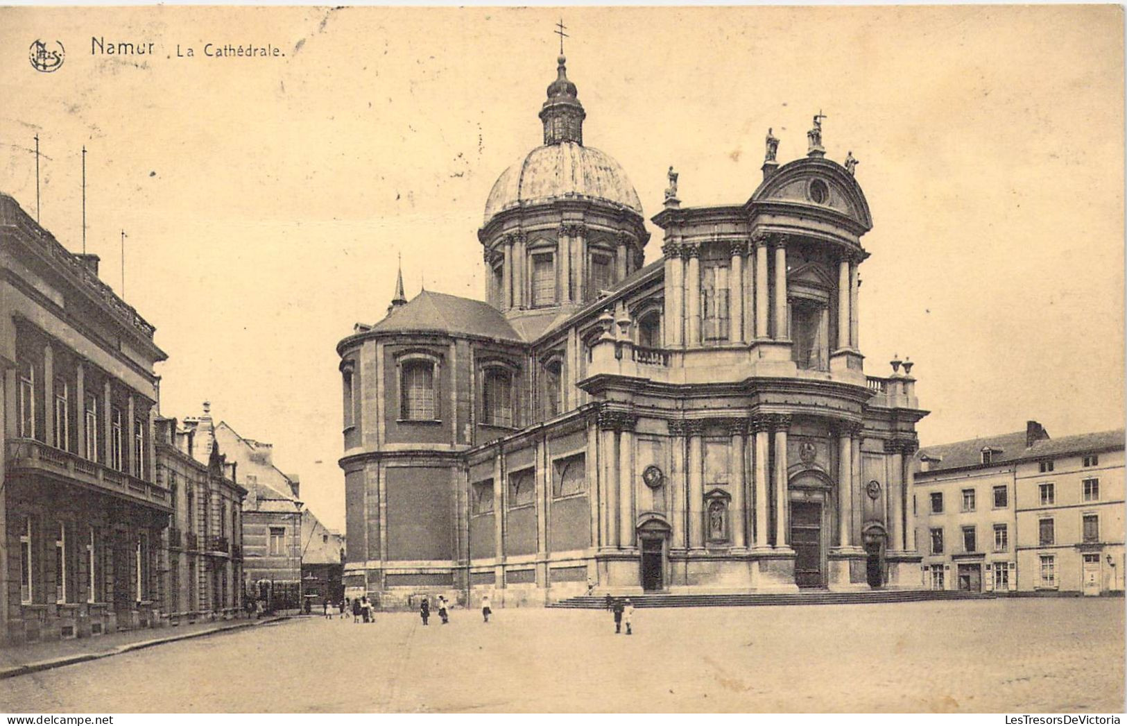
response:
<svg viewBox="0 0 1127 726"><path fill-rule="evenodd" d="M734 608L747 605L854 605L881 602L921 602L925 600L992 600L994 593L962 592L957 590L870 590L862 592L806 590L798 593L707 595L653 593L629 595L629 597L635 608ZM548 607L602 610L606 608L606 595L578 595L549 603Z"/></svg>

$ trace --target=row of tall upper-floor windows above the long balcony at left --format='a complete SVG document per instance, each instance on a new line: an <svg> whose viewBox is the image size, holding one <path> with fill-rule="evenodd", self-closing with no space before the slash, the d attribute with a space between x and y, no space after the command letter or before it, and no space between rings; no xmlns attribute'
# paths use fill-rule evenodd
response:
<svg viewBox="0 0 1127 726"><path fill-rule="evenodd" d="M38 439L50 443L55 449L62 449L63 451L70 451L72 453L78 453L85 459L94 462L101 462L104 454L101 453L101 436L99 436L99 431L101 430L99 417L99 405L98 396L94 391L88 391L83 397L81 404L81 416L83 423L83 435L82 441L74 441L71 432L71 420L72 420L72 406L77 405L72 401L72 389L70 382L61 377L55 377L52 393L54 397L54 416L53 416L53 427L54 431L51 433L51 439L47 440L46 433L41 431L39 422L44 420L44 417L36 410L36 369L29 362L20 362L19 364L19 387L17 391L17 433L21 439ZM74 411L78 413L78 411ZM125 420L124 413L119 406L110 406L109 408L109 461L106 463L110 469L117 471L125 471L125 457L124 449L125 435L127 422ZM145 422L142 418L134 418L132 423L132 440L133 440L133 467L132 471L134 476L141 477L145 471ZM104 436L105 434L103 434Z"/></svg>

